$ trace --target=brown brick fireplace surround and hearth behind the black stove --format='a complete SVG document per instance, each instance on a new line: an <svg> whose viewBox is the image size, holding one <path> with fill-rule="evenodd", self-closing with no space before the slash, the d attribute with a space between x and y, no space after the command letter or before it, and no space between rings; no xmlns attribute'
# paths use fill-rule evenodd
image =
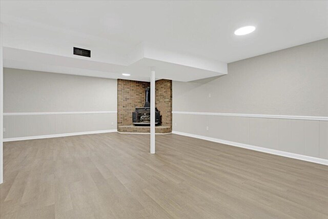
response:
<svg viewBox="0 0 328 219"><path fill-rule="evenodd" d="M155 82L155 106L160 111L162 124L156 126L156 133L172 132L172 81L160 79ZM149 82L117 79L117 131L149 133L149 126L133 126L132 112L136 107L144 107L145 89Z"/></svg>

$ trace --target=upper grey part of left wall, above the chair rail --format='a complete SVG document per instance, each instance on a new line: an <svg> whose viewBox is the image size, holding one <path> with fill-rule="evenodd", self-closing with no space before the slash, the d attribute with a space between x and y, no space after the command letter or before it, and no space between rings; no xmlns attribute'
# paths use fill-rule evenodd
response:
<svg viewBox="0 0 328 219"><path fill-rule="evenodd" d="M4 112L116 111L116 79L4 69Z"/></svg>

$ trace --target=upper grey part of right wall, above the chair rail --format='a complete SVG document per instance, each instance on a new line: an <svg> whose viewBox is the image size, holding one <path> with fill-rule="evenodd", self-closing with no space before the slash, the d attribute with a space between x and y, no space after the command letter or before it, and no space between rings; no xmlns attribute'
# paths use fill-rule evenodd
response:
<svg viewBox="0 0 328 219"><path fill-rule="evenodd" d="M228 74L173 83L173 111L328 116L328 39L228 64ZM211 97L209 97L211 94Z"/></svg>

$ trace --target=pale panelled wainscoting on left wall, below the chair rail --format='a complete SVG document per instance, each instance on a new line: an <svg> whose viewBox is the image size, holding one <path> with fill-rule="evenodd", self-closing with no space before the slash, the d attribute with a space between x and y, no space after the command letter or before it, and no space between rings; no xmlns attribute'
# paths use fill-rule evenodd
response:
<svg viewBox="0 0 328 219"><path fill-rule="evenodd" d="M4 138L114 130L116 112L4 115Z"/></svg>

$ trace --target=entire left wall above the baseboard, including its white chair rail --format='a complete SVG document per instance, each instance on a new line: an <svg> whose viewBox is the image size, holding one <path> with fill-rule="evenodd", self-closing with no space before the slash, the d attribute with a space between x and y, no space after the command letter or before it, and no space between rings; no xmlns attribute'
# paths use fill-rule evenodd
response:
<svg viewBox="0 0 328 219"><path fill-rule="evenodd" d="M5 141L116 129L117 81L4 69Z"/></svg>

